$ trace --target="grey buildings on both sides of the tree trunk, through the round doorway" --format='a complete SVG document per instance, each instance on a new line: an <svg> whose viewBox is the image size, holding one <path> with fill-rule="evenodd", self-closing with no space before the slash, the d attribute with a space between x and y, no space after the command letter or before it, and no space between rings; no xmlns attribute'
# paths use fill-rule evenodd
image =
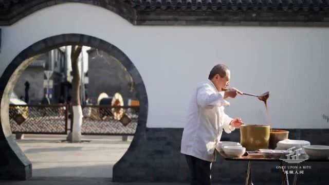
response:
<svg viewBox="0 0 329 185"><path fill-rule="evenodd" d="M25 83L28 82L30 84L28 104L46 103L45 97L49 98L50 103L64 103L70 100L72 82L70 54L71 46L41 54L24 70L15 85L14 92L25 100ZM104 51L84 46L78 60L81 92L84 91L84 94L81 94L82 102L88 98L89 103L97 104L97 98L101 93L106 93L110 97L120 93L125 105L129 99L136 99L133 79L117 59Z"/></svg>

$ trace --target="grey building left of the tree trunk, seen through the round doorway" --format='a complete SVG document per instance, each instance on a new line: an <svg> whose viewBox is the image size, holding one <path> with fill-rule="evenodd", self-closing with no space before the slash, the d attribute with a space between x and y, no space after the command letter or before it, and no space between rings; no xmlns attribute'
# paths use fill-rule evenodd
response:
<svg viewBox="0 0 329 185"><path fill-rule="evenodd" d="M45 97L48 97L51 103L58 103L60 97L64 96L66 64L65 47L41 54L22 73L14 92L25 100L24 84L28 82L29 102L26 103L40 104Z"/></svg>

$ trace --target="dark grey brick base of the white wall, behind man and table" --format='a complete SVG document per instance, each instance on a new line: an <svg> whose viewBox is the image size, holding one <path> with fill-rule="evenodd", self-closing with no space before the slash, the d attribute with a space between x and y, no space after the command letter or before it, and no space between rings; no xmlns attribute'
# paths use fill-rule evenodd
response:
<svg viewBox="0 0 329 185"><path fill-rule="evenodd" d="M289 139L308 140L311 144L329 145L328 129L284 129ZM185 156L180 153L182 128L147 128L146 135L139 142L133 142L126 154L114 165L113 180L118 182L188 182L189 171ZM240 132L223 133L222 141L240 141ZM281 182L277 169L279 162L252 162L254 182ZM328 184L325 178L329 165L321 162L304 162L312 169L304 170L298 184ZM246 177L247 162L227 161L217 155L212 165L213 182L243 183ZM293 177L290 177L291 180Z"/></svg>

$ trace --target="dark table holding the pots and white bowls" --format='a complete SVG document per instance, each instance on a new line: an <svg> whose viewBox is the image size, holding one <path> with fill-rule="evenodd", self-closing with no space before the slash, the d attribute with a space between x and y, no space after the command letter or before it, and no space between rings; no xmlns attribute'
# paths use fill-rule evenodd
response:
<svg viewBox="0 0 329 185"><path fill-rule="evenodd" d="M248 167L247 167L247 175L246 175L246 185L253 185L253 182L251 180L251 161L266 161L266 162L280 162L281 166L283 165L282 160L278 158L266 158L261 153L246 153L242 157L229 157L225 155L224 152L220 152L220 154L224 157L225 160L234 160L234 161L248 161ZM301 155L299 159L307 160L307 161L329 161L329 160L312 160L308 159L308 156L306 154ZM299 165L299 164L296 164ZM288 174L284 173L284 169L280 170L282 173L282 185L289 185L289 179ZM294 174L294 181L293 184L295 185L297 183L297 174Z"/></svg>

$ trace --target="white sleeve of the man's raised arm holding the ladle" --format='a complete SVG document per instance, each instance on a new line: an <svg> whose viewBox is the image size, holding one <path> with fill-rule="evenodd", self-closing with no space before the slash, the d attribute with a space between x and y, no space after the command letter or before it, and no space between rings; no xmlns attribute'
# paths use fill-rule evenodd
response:
<svg viewBox="0 0 329 185"><path fill-rule="evenodd" d="M220 92L214 92L206 85L198 88L196 101L201 107L223 106L227 104L227 101L224 100L224 97Z"/></svg>

